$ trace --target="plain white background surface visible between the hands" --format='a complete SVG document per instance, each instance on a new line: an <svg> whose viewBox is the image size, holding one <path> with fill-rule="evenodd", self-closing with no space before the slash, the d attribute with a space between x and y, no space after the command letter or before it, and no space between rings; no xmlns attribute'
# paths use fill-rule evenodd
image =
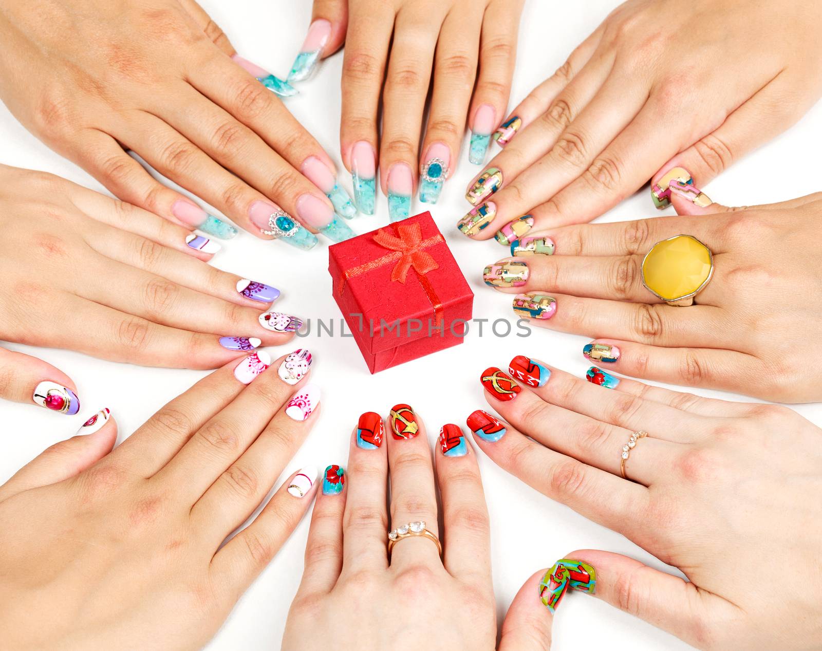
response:
<svg viewBox="0 0 822 651"><path fill-rule="evenodd" d="M279 76L285 76L310 22L310 2L202 0L202 4L224 28L240 53ZM587 0L584 8L582 4L546 0L527 2L520 30L520 53L511 107L559 67L571 49L589 35L618 2ZM300 85L301 95L289 100L289 109L337 160L338 169L342 169L339 164L341 63L339 54L330 58L313 81ZM810 170L818 169L819 161L816 148L809 147L808 143L820 141L822 105L817 105L797 127L739 161L704 189L715 201L731 205L781 201L818 191L822 189L818 174L810 173ZM47 170L88 187L103 189L81 169L61 159L25 132L2 105L0 142L2 163ZM496 145L492 145L493 151L496 151ZM464 187L476 171L477 168L468 164L464 147L459 156L459 169L446 183L440 203L432 214L476 294L474 316L513 321L510 297L485 288L481 279L483 266L503 256L501 247L493 241L471 242L454 228L468 207L463 198ZM350 189L349 175L341 173L340 178ZM365 233L386 224L385 197L379 198L377 206L376 215L353 220L354 229ZM600 221L654 215L657 213L653 210L648 187L645 187ZM25 242L21 245L25 246ZM262 242L243 232L227 243L223 252L215 256L213 264L282 289L283 296L277 303L279 309L312 319L339 319L339 311L331 298L324 245L312 252L298 252L280 243ZM59 319L60 315L53 318ZM358 415L367 410L385 415L393 404L399 402L413 405L427 422L429 438L433 441L441 424L455 422L464 426L465 417L473 409L486 406L478 382L478 374L483 368L491 365L505 368L512 356L521 353L582 375L589 366L580 353L587 340L548 330L536 330L529 339L472 335L454 349L370 376L353 339L317 339L316 332L312 333L300 344L307 345L314 353L316 363L312 378L323 388L323 409L312 435L288 465L286 473L303 465L316 464L322 469L330 463L344 464L349 435ZM11 476L44 447L71 436L95 410L104 406L112 409L118 420L120 436L127 436L167 400L204 375L204 372L103 362L62 350L32 349L16 344L8 347L39 355L72 376L79 389L82 409L80 414L66 418L27 404L0 403L3 423L0 481ZM272 351L274 357L284 352L284 349ZM714 395L710 391L698 392ZM721 397L745 399L733 395ZM820 405L802 405L797 411L822 424ZM592 524L510 477L482 453L479 463L492 517L494 588L500 621L524 579L578 547L622 552L663 567L621 535ZM285 616L302 572L307 525L308 520L304 519L275 561L242 598L209 649L279 648ZM466 550L466 553L470 551ZM554 626L554 648L579 648L577 635L583 622L584 645L591 649L688 648L643 621L583 596L566 599Z"/></svg>

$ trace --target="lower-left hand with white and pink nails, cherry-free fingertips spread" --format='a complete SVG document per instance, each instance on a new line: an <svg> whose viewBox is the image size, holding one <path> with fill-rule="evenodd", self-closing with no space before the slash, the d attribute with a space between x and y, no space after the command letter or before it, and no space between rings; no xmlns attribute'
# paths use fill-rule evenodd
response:
<svg viewBox="0 0 822 651"><path fill-rule="evenodd" d="M293 473L223 544L315 421L319 390L287 360L219 369L113 451L101 410L0 487L4 649L199 649L215 634L314 493L316 469Z"/></svg>

